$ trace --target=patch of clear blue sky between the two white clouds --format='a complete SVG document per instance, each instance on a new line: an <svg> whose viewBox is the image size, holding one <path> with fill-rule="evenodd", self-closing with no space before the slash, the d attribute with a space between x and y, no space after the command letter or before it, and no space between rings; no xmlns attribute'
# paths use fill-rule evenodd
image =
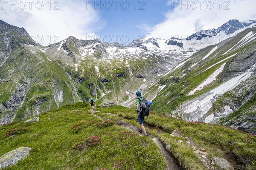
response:
<svg viewBox="0 0 256 170"><path fill-rule="evenodd" d="M93 2L92 7L96 8L96 11L99 12L104 25L104 28L94 32L97 37L100 38L102 36L102 39L105 41L110 41L109 37L111 37L112 41L116 39L121 43L145 37L148 32L140 28L141 25L154 26L162 22L164 14L171 10L171 6L166 4L166 0L131 0L126 2L122 4L117 2L111 3L111 8L109 6L110 3L105 5L102 3L101 6L96 6L96 3ZM100 3L97 4L99 5ZM128 40L126 35L129 37Z"/></svg>

